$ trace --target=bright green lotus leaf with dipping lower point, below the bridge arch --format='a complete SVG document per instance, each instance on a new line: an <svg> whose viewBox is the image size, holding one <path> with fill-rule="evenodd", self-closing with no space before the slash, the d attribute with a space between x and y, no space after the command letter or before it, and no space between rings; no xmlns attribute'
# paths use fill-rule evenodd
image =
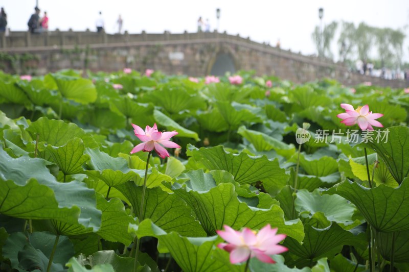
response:
<svg viewBox="0 0 409 272"><path fill-rule="evenodd" d="M218 101L216 106L231 130L237 129L243 122L261 122L260 117L253 112L248 109L237 110L229 102Z"/></svg>

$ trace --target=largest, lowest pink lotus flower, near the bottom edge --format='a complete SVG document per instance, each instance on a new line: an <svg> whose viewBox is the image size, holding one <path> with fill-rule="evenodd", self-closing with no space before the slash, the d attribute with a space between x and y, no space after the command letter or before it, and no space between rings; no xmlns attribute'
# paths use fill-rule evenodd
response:
<svg viewBox="0 0 409 272"><path fill-rule="evenodd" d="M270 225L262 228L257 234L248 228L240 232L224 225L224 229L225 231L217 231L217 234L228 243L219 243L217 246L230 253L231 263L244 262L252 257L257 257L262 262L275 263L268 255L280 254L288 250L278 244L286 235L276 235L277 229L271 229Z"/></svg>

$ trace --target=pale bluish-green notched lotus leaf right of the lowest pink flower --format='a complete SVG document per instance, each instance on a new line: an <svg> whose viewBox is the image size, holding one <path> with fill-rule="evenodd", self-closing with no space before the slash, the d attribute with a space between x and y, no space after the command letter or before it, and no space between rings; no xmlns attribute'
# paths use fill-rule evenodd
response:
<svg viewBox="0 0 409 272"><path fill-rule="evenodd" d="M297 192L296 209L301 215L311 218L315 213L321 212L327 220L337 222L339 225L354 223L352 216L355 206L344 197L333 194L320 194L319 189L313 192L299 190Z"/></svg>

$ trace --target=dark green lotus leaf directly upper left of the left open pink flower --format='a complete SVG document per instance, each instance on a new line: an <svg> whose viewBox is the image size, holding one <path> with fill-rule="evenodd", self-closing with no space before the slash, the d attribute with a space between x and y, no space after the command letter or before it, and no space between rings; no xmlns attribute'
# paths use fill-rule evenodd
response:
<svg viewBox="0 0 409 272"><path fill-rule="evenodd" d="M81 116L82 122L88 122L97 128L123 129L126 127L126 117L107 108L88 110Z"/></svg>

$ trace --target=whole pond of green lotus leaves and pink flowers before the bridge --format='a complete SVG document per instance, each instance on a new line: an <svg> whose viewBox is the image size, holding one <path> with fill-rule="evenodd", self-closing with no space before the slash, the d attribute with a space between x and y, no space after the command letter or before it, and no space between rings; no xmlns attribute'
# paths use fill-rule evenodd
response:
<svg viewBox="0 0 409 272"><path fill-rule="evenodd" d="M245 71L1 73L0 270L409 271L408 110Z"/></svg>

